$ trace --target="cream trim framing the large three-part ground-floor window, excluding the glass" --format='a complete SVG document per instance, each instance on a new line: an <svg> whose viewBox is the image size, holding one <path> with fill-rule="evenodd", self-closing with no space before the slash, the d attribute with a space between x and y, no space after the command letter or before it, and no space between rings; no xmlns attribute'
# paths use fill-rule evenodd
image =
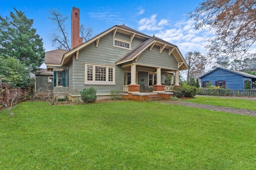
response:
<svg viewBox="0 0 256 170"><path fill-rule="evenodd" d="M116 80L115 80L116 66L104 65L104 64L94 64L94 63L84 63L84 64L85 64L85 66L84 66L84 68L85 68L84 84L86 84L86 85L116 85ZM87 80L87 66L88 65L92 66L92 81ZM95 66L106 67L106 81L95 81ZM108 68L113 68L113 81L112 82L108 81Z"/></svg>

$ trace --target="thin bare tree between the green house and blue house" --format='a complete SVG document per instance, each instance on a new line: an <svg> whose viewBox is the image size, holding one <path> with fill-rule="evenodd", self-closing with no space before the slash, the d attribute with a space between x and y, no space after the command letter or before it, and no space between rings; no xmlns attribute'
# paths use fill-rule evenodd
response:
<svg viewBox="0 0 256 170"><path fill-rule="evenodd" d="M207 64L207 59L200 52L188 52L185 55L185 60L188 63L188 72L187 72L187 82L189 82L190 77L200 77L204 74L204 69Z"/></svg>

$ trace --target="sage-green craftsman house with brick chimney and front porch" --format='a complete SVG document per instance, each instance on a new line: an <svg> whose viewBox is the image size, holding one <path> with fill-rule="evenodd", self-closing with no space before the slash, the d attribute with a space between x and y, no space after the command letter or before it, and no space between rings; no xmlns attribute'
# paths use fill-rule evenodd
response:
<svg viewBox="0 0 256 170"><path fill-rule="evenodd" d="M188 69L188 64L176 45L126 25L114 25L82 43L79 9L73 7L71 15L72 49L45 56L47 69L54 72L54 93L72 99L93 86L98 99L108 97L111 90L120 90L123 98L130 99L132 95L147 98L147 93L140 93L145 90L166 97L170 94L165 92L166 74L171 75L171 84L175 74L175 86L179 86L179 71Z"/></svg>

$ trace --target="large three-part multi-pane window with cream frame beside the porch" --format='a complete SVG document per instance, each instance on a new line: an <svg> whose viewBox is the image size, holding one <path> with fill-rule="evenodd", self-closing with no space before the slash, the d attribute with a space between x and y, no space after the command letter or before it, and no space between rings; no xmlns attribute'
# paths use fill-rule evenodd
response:
<svg viewBox="0 0 256 170"><path fill-rule="evenodd" d="M94 65L94 64L86 64L86 84L113 84L114 66L105 66L105 65Z"/></svg>

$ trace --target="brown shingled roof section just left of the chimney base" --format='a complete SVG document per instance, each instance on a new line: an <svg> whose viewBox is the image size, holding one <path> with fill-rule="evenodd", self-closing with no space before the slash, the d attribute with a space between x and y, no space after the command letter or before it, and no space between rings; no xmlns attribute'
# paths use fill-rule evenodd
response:
<svg viewBox="0 0 256 170"><path fill-rule="evenodd" d="M52 51L47 51L44 57L45 64L60 64L63 55L68 52L68 50L56 49Z"/></svg>

